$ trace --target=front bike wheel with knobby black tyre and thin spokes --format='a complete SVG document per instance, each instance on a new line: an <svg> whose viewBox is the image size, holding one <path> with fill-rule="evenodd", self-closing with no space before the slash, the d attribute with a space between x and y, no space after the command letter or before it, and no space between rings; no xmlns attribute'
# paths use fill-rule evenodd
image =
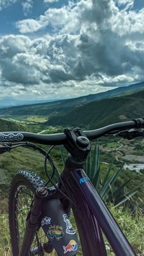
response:
<svg viewBox="0 0 144 256"><path fill-rule="evenodd" d="M32 208L35 191L40 186L45 186L44 181L28 171L18 172L12 180L9 195L9 227L13 256L18 256L20 252L26 229L27 214ZM53 247L40 227L35 233L33 243L29 248L29 255L44 256L52 250Z"/></svg>

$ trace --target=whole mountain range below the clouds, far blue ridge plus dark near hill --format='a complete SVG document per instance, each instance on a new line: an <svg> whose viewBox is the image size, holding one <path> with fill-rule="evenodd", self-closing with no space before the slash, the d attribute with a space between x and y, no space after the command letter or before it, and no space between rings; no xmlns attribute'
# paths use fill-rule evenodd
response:
<svg viewBox="0 0 144 256"><path fill-rule="evenodd" d="M42 115L46 125L95 129L144 117L144 82L69 100L0 109L1 115Z"/></svg>

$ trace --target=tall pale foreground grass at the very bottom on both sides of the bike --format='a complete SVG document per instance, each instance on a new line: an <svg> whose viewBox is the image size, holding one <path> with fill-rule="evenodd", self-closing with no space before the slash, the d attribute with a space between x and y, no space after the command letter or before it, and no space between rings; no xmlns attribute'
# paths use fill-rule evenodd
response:
<svg viewBox="0 0 144 256"><path fill-rule="evenodd" d="M128 238L131 243L135 253L139 256L144 254L144 221L143 216L140 214L136 214L136 216L132 216L129 210L123 210L122 207L114 208L112 205L109 206L110 211L112 212L114 218L120 225L124 234ZM71 216L71 223L76 229L76 224L74 222L73 216ZM10 249L10 236L9 236L9 225L7 214L1 214L0 216L0 225L1 225L1 237L0 237L0 255L1 256L11 256L12 252ZM106 244L109 245L109 243ZM107 251L109 256L114 255L112 250ZM54 252L49 254L51 256L57 255ZM77 256L82 255L81 248Z"/></svg>

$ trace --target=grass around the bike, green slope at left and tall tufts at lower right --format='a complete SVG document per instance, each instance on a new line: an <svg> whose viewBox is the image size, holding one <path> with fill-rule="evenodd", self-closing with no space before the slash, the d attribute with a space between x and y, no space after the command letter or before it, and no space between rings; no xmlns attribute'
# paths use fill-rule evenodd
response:
<svg viewBox="0 0 144 256"><path fill-rule="evenodd" d="M52 156L56 160L58 169L63 169L63 164L59 161L60 152L57 152L54 149ZM27 149L24 147L17 148L12 152L7 152L4 155L0 156L0 167L1 167L1 181L9 181L13 177L13 175L22 169L29 169L41 177L45 177L45 173L43 170L43 161L44 158L40 153L35 152L34 150ZM124 172L124 174L127 172ZM130 172L129 172L130 173ZM142 176L141 176L142 178ZM135 180L136 181L136 180ZM5 189L2 189L4 193ZM11 256L12 252L10 249L10 237L9 237L9 225L7 218L7 199L4 197L1 199L1 210L0 210L0 255L1 256ZM120 224L124 234L128 237L129 242L132 244L132 247L135 249L137 255L144 254L144 221L142 214L136 215L133 217L128 210L124 210L123 208L114 209L112 205L110 205L110 211L112 211L113 216ZM71 218L71 222L74 223L74 219ZM106 242L107 244L107 242ZM112 251L107 251L109 256L112 256ZM51 254L54 256L56 254ZM82 255L81 248L77 256Z"/></svg>

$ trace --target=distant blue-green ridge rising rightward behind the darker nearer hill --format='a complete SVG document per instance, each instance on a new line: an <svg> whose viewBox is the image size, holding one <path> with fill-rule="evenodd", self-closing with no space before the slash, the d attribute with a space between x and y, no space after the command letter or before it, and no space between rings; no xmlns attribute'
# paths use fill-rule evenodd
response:
<svg viewBox="0 0 144 256"><path fill-rule="evenodd" d="M93 101L99 101L103 98L113 97L120 93L132 92L144 88L144 82L139 84L132 84L131 86L118 87L117 89L101 92L97 94L87 95L79 98L72 98L68 100L58 100L48 103L31 104L24 106L13 106L11 108L0 109L1 115L63 115L71 111L72 108L84 106Z"/></svg>

